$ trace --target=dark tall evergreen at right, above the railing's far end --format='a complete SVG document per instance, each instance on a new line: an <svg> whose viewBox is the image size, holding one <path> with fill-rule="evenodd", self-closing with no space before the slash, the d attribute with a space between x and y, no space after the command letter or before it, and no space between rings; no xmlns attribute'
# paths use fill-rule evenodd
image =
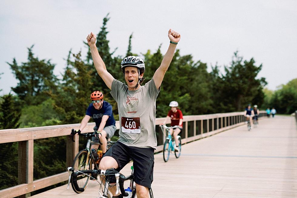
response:
<svg viewBox="0 0 297 198"><path fill-rule="evenodd" d="M245 106L252 102L261 106L264 95L263 87L267 84L265 78L256 79L262 69L262 64L255 65L252 58L243 61L234 53L230 67L225 66L225 76L223 76L222 99L225 104L229 104L229 111L242 111Z"/></svg>

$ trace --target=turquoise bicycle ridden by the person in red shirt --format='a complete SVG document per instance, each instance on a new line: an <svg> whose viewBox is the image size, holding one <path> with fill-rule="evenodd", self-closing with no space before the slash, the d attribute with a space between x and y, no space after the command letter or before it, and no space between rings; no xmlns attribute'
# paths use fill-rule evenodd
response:
<svg viewBox="0 0 297 198"><path fill-rule="evenodd" d="M165 125L160 125L162 132L164 135L166 135L166 140L164 142L164 147L163 147L163 159L165 162L169 160L169 156L171 152L174 152L174 155L176 158L179 158L182 150L182 138L181 136L177 136L178 138L178 149L175 149L175 139L173 136L170 134L170 129L175 129L179 128L182 129L180 126L165 126Z"/></svg>

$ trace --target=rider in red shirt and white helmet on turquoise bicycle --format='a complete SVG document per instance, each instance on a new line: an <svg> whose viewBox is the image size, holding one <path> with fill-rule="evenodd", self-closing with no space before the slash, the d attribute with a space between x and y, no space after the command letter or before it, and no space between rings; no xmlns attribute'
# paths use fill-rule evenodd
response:
<svg viewBox="0 0 297 198"><path fill-rule="evenodd" d="M163 122L163 125L166 124L166 122L168 122L169 119L171 119L171 125L170 126L179 126L180 128L182 128L182 111L179 110L179 103L176 101L171 101L169 106L171 107L170 111L168 112L168 115L165 118L165 121ZM170 129L170 134L172 135L173 133L173 137L175 139L175 150L178 151L179 149L179 139L178 139L178 135L181 132L181 129L179 128L174 128L174 129Z"/></svg>

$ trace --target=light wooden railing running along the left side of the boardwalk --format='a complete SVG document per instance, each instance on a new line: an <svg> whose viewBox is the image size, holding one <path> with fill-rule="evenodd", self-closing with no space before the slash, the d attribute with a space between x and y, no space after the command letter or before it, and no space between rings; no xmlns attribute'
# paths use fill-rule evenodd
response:
<svg viewBox="0 0 297 198"><path fill-rule="evenodd" d="M266 115L265 111L260 111L260 116ZM265 116L264 116L265 117ZM164 136L159 129L159 124L164 122L165 118L156 119L156 133L158 145L155 152L160 152L163 149ZM243 112L217 113L197 116L184 116L182 130L182 144L211 136L244 124L245 118ZM93 131L95 123L90 122L85 127L84 132ZM0 190L0 197L28 197L30 193L63 181L68 180L68 173L63 172L48 176L39 180L33 180L33 151L34 140L44 139L58 136L68 136L71 129L78 129L80 124L67 124L56 126L32 127L23 129L5 129L0 130L0 143L18 142L18 160L20 163L25 163L25 170L18 173L18 180L23 181L22 184L12 186L10 188ZM119 129L119 122L116 122L116 127ZM17 140L17 141L16 141ZM78 140L78 135L75 136ZM71 139L66 140L66 167L72 166L73 159L78 153L78 141L75 143ZM25 154L24 154L25 153ZM20 164L19 163L19 164ZM0 184L2 185L2 184Z"/></svg>

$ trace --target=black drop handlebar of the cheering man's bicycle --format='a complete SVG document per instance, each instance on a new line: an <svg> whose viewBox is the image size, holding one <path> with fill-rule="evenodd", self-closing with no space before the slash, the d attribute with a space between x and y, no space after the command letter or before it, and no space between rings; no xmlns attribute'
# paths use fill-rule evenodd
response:
<svg viewBox="0 0 297 198"><path fill-rule="evenodd" d="M77 176L79 176L79 175L84 175L84 174L115 175L115 174L119 174L119 177L116 177L116 183L118 184L117 189L118 188L120 189L122 196L128 196L128 193L125 192L125 188L124 188L125 176L113 168L107 169L107 170L100 170L100 169L99 170L81 170L79 172L78 171L74 172L74 169L72 167L68 167L68 172L69 172L69 177L72 177L73 186L74 186L75 190L77 190L78 192L84 192L84 190L85 190L84 188L80 188L77 184Z"/></svg>

